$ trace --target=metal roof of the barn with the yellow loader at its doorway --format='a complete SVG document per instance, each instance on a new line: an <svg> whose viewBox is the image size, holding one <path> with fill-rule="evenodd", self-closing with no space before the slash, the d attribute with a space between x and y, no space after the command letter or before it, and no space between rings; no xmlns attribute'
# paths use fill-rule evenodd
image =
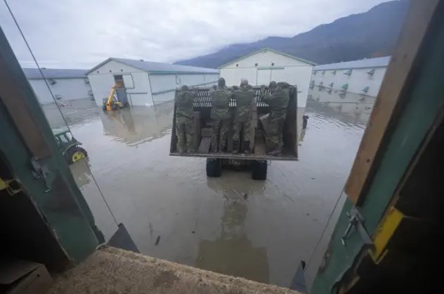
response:
<svg viewBox="0 0 444 294"><path fill-rule="evenodd" d="M131 67L136 67L138 69L145 70L146 72L150 72L152 74L218 74L217 69L205 68L205 67L189 67L187 65L172 65L170 63L161 63L161 62L150 62L144 60L133 60L133 59L125 59L125 58L108 58L104 62L101 62L96 67L93 67L86 74L93 72L98 69L106 62L110 60L115 60L117 62L122 62L125 65L129 65Z"/></svg>

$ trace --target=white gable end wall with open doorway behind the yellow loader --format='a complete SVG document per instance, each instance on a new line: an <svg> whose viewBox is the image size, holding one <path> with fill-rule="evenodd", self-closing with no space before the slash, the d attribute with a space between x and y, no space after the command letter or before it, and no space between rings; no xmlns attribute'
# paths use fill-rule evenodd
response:
<svg viewBox="0 0 444 294"><path fill-rule="evenodd" d="M111 87L115 85L115 75L122 75L124 76L124 82L127 81L125 86L130 105L152 105L148 73L115 60L110 60L88 74L96 105L101 106L103 98L107 98L110 95Z"/></svg>

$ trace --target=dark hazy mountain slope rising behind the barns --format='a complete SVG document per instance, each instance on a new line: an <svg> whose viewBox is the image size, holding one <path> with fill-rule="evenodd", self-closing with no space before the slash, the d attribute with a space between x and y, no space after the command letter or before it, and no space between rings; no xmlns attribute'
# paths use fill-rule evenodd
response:
<svg viewBox="0 0 444 294"><path fill-rule="evenodd" d="M234 44L176 64L216 68L263 47L318 64L391 55L409 3L410 0L385 2L291 38L270 36L254 43Z"/></svg>

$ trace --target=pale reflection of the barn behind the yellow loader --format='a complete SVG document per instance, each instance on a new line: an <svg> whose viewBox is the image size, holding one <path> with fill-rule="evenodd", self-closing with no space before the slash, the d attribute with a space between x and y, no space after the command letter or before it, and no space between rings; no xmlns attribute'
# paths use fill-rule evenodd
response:
<svg viewBox="0 0 444 294"><path fill-rule="evenodd" d="M129 146L137 146L162 137L171 129L173 102L155 107L129 107L115 112L102 112L104 133Z"/></svg>

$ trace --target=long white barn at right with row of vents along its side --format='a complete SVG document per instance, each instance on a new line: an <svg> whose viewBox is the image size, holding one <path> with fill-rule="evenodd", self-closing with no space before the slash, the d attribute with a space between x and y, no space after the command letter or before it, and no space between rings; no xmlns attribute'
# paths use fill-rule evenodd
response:
<svg viewBox="0 0 444 294"><path fill-rule="evenodd" d="M377 96L390 56L313 67L311 86Z"/></svg>

